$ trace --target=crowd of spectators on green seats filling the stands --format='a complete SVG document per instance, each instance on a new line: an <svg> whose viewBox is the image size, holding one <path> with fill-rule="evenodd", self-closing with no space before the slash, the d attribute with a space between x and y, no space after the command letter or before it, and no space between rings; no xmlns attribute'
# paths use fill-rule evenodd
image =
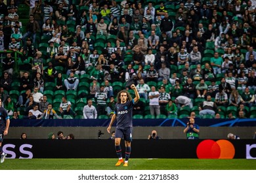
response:
<svg viewBox="0 0 256 183"><path fill-rule="evenodd" d="M255 0L0 0L12 118L256 118Z"/></svg>

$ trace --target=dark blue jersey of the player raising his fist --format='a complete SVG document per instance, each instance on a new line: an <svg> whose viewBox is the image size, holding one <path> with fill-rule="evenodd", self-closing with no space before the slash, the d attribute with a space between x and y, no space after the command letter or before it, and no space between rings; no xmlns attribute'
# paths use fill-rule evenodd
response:
<svg viewBox="0 0 256 183"><path fill-rule="evenodd" d="M126 129L133 126L133 101L127 101L126 103L117 103L115 107L116 114L116 127L119 129Z"/></svg>

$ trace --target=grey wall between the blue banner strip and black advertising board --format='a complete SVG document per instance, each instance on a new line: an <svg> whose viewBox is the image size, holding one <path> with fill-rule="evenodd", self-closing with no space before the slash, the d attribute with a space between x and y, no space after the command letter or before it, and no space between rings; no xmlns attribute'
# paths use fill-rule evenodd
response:
<svg viewBox="0 0 256 183"><path fill-rule="evenodd" d="M186 139L184 127L133 127L133 139L147 139L153 129L162 139ZM50 132L56 135L58 131L63 131L65 136L73 133L75 139L98 139L98 130L104 133L102 139L110 137L106 127L10 127L5 139L20 139L22 132L28 135L28 139L47 139ZM200 127L200 139L226 139L228 133L241 139L252 139L255 130L256 127Z"/></svg>

